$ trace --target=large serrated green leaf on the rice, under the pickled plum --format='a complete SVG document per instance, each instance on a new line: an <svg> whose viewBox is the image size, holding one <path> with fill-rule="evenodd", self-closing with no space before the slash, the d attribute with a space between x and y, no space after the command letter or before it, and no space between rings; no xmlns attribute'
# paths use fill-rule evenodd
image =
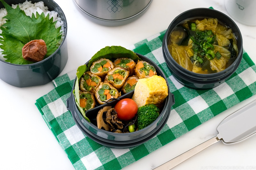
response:
<svg viewBox="0 0 256 170"><path fill-rule="evenodd" d="M45 17L42 12L36 16L32 14L30 18L24 11L20 10L19 5L13 9L4 0L0 0L4 5L7 15L6 23L0 27L3 38L0 39L0 48L3 49L2 54L6 58L6 62L13 64L31 64L22 57L22 48L25 44L32 40L42 39L46 43L47 53L44 58L52 55L58 49L58 42L61 39L60 28L55 28L56 22L50 19L49 14Z"/></svg>

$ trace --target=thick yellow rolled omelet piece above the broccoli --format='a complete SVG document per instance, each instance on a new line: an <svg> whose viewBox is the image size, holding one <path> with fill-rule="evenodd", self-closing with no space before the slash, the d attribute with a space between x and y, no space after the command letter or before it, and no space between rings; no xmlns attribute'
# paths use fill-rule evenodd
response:
<svg viewBox="0 0 256 170"><path fill-rule="evenodd" d="M168 86L164 78L154 75L149 78L139 79L132 96L138 107L146 104L154 104L161 107L168 96Z"/></svg>

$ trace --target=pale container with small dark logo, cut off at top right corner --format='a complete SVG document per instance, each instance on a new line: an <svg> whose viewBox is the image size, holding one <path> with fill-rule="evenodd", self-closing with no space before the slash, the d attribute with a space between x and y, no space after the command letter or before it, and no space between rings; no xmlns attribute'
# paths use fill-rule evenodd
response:
<svg viewBox="0 0 256 170"><path fill-rule="evenodd" d="M225 7L231 18L247 26L256 26L256 0L225 0Z"/></svg>

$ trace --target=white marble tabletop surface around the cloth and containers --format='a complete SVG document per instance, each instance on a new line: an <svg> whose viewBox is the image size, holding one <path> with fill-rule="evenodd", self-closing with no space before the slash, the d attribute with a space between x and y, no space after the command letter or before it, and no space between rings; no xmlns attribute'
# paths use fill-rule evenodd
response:
<svg viewBox="0 0 256 170"><path fill-rule="evenodd" d="M188 9L212 6L228 14L223 0L154 0L148 11L124 26L106 27L92 23L77 11L72 0L55 0L68 21L68 63L61 74L76 69L105 46L129 47L169 26L172 19ZM244 49L256 63L256 26L236 22L243 35ZM0 73L1 74L1 73ZM1 154L3 170L72 170L74 167L61 149L35 106L36 99L54 86L17 88L0 80ZM124 170L149 170L214 137L216 127L229 114L256 96L229 108L204 124L150 153ZM256 136L236 144L218 142L173 169L256 169Z"/></svg>

